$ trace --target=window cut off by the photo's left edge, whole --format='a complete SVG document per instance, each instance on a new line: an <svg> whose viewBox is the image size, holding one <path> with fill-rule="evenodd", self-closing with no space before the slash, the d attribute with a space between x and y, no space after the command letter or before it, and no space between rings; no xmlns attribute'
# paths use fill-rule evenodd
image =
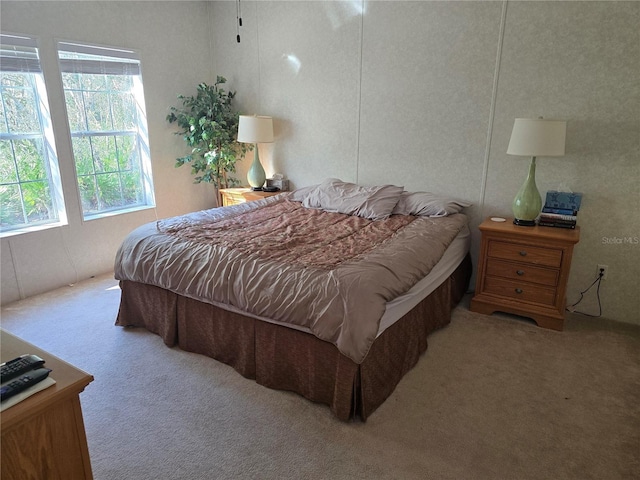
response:
<svg viewBox="0 0 640 480"><path fill-rule="evenodd" d="M51 116L33 38L0 35L0 230L66 222Z"/></svg>

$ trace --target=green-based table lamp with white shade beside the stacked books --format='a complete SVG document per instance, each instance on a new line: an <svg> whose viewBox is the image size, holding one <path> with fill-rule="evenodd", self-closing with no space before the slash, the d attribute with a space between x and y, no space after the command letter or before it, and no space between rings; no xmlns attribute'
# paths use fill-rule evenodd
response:
<svg viewBox="0 0 640 480"><path fill-rule="evenodd" d="M534 226L542 209L542 198L536 187L536 157L561 157L567 122L541 118L516 118L507 154L531 157L529 174L513 199L513 223Z"/></svg>

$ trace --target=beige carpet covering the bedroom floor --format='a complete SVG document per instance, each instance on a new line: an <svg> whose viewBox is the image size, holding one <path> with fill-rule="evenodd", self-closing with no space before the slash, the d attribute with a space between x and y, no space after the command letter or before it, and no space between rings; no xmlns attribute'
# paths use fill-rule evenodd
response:
<svg viewBox="0 0 640 480"><path fill-rule="evenodd" d="M562 333L464 304L366 423L114 326L110 275L2 309L2 327L95 377L97 480L626 479L640 473L640 331Z"/></svg>

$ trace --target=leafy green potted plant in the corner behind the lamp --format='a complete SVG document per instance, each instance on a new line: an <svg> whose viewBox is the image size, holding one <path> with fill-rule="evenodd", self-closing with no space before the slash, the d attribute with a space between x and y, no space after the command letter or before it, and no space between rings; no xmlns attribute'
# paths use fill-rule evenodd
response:
<svg viewBox="0 0 640 480"><path fill-rule="evenodd" d="M176 168L189 163L194 183L208 182L216 188L228 188L240 182L227 175L234 173L252 144L239 143L238 117L231 107L235 92L220 88L227 80L217 76L216 83L198 85L196 96L178 95L182 107L171 107L169 123L177 123L191 153L176 159Z"/></svg>

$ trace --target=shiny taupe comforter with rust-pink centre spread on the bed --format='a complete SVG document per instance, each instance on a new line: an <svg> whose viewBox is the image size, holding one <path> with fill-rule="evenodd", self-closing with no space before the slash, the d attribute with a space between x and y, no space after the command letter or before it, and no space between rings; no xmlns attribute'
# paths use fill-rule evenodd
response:
<svg viewBox="0 0 640 480"><path fill-rule="evenodd" d="M144 225L120 247L115 276L305 327L361 363L386 303L429 273L467 219L374 222L288 196Z"/></svg>

